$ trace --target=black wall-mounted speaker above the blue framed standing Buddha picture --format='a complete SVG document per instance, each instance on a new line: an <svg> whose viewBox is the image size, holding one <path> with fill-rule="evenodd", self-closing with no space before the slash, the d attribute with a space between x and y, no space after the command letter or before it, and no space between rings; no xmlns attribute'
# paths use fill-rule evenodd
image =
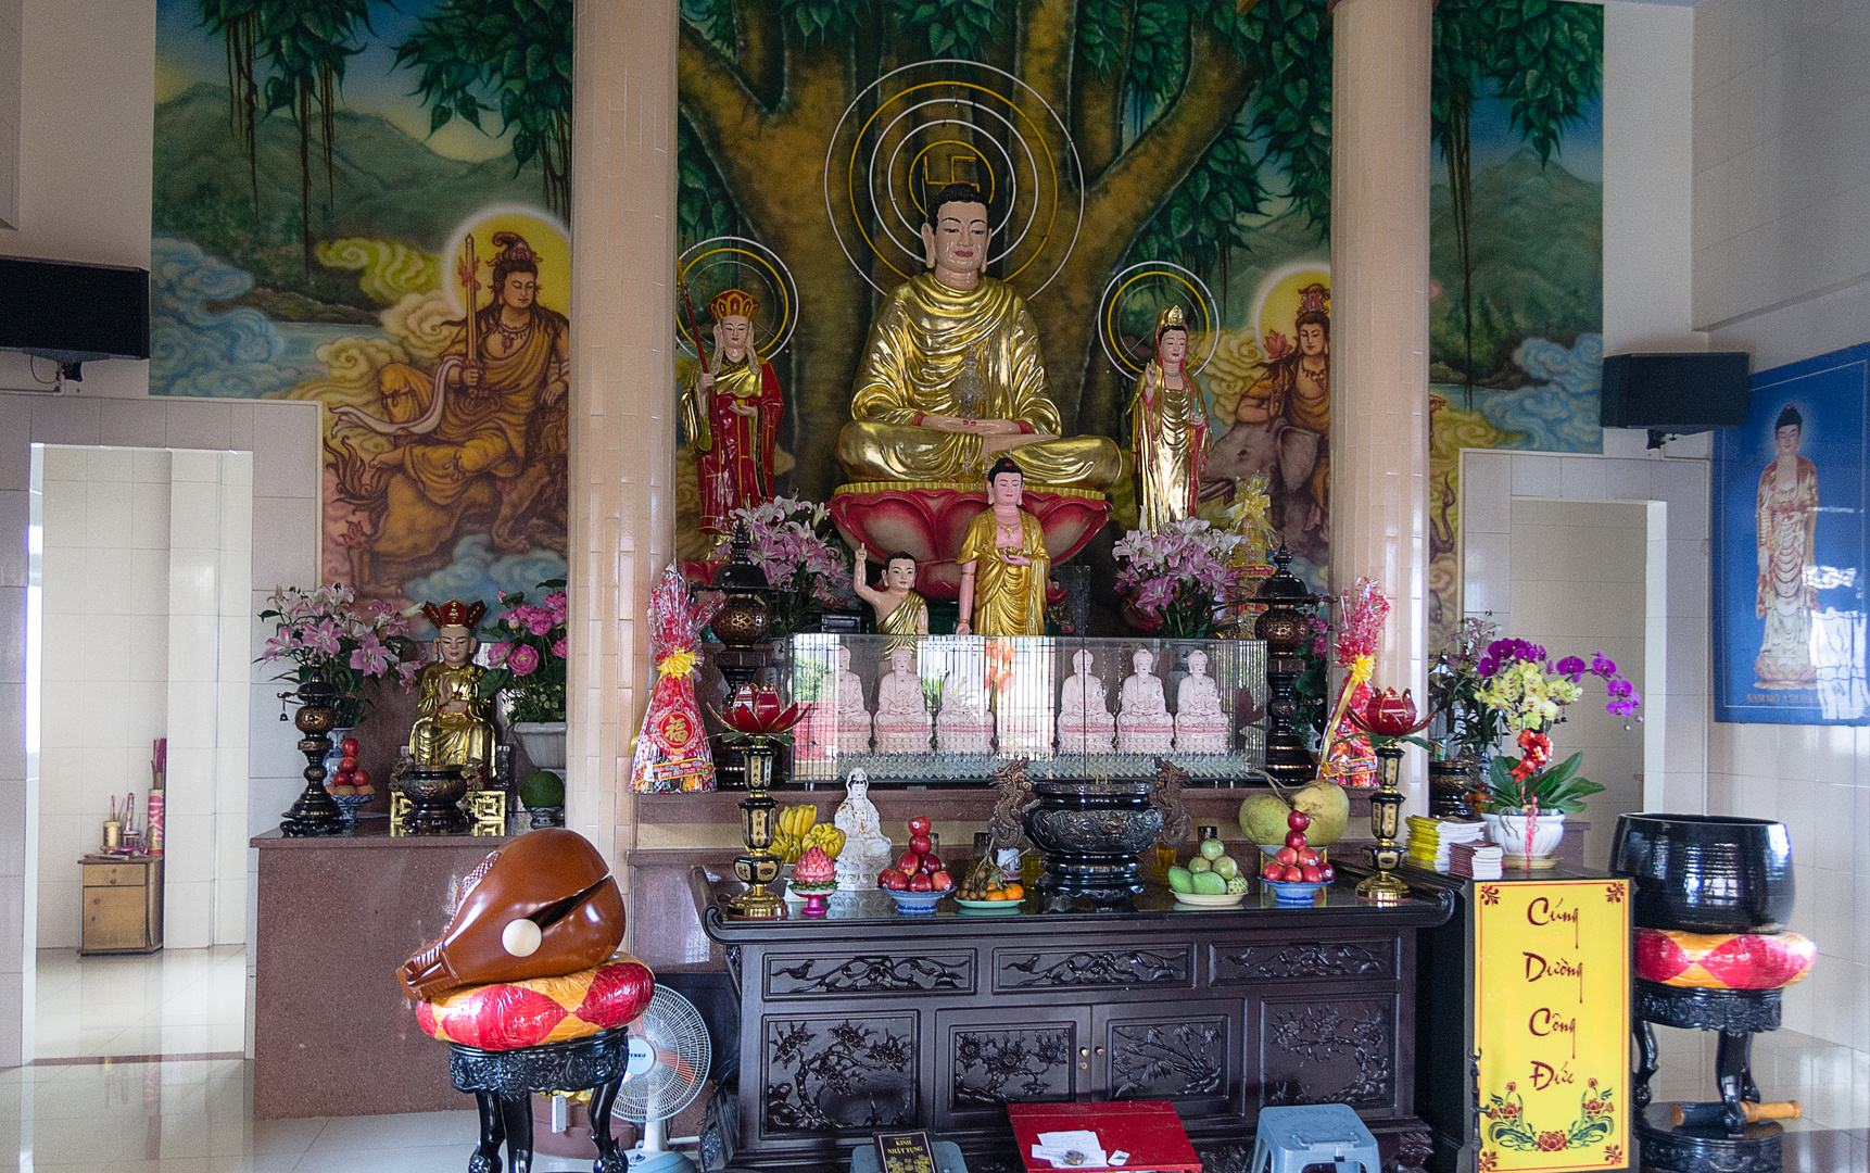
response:
<svg viewBox="0 0 1870 1173"><path fill-rule="evenodd" d="M1604 355L1599 423L1677 434L1737 428L1752 406L1750 357L1745 352Z"/></svg>

